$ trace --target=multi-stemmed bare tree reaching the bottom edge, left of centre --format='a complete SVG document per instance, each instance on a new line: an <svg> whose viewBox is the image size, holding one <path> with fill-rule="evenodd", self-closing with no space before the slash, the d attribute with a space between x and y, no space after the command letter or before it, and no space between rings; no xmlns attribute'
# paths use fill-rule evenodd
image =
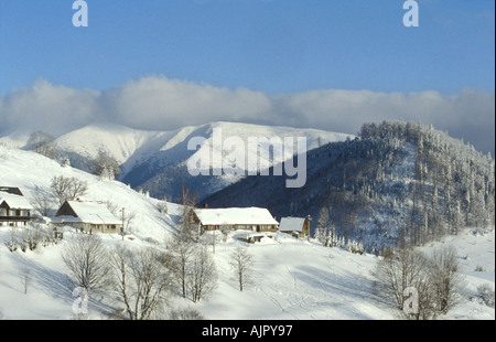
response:
<svg viewBox="0 0 496 342"><path fill-rule="evenodd" d="M155 248L138 252L117 246L111 253L115 285L131 320L161 318L171 287L164 256Z"/></svg>

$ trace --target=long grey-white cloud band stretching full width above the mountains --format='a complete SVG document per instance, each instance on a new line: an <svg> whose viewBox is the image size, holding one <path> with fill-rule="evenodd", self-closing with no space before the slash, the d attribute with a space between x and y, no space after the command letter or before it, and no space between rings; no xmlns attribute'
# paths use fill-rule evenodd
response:
<svg viewBox="0 0 496 342"><path fill-rule="evenodd" d="M172 130L217 120L356 133L363 122L405 120L432 124L494 154L494 94L473 89L454 95L316 89L269 96L163 76L129 81L101 92L41 81L0 97L0 133L25 128L60 135L94 121Z"/></svg>

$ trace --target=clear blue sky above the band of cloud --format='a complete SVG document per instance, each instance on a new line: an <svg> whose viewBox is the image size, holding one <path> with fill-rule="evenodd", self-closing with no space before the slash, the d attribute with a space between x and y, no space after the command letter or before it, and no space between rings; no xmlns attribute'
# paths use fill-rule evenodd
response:
<svg viewBox="0 0 496 342"><path fill-rule="evenodd" d="M43 78L105 89L151 74L268 94L494 92L494 1L1 0L0 92Z"/></svg>

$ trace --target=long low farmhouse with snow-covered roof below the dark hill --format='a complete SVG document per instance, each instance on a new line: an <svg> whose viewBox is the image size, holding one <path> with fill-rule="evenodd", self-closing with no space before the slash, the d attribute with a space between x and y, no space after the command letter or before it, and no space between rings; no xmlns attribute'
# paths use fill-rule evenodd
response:
<svg viewBox="0 0 496 342"><path fill-rule="evenodd" d="M276 232L279 225L270 212L261 207L196 209L194 214L202 232L218 229Z"/></svg>

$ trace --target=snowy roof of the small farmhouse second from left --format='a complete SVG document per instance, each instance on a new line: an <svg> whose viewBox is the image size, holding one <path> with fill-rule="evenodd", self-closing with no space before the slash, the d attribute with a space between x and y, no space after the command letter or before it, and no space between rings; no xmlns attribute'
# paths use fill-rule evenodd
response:
<svg viewBox="0 0 496 342"><path fill-rule="evenodd" d="M122 221L114 216L104 203L67 201L77 217L60 215L53 221L60 223L84 222L90 224L122 224Z"/></svg>

